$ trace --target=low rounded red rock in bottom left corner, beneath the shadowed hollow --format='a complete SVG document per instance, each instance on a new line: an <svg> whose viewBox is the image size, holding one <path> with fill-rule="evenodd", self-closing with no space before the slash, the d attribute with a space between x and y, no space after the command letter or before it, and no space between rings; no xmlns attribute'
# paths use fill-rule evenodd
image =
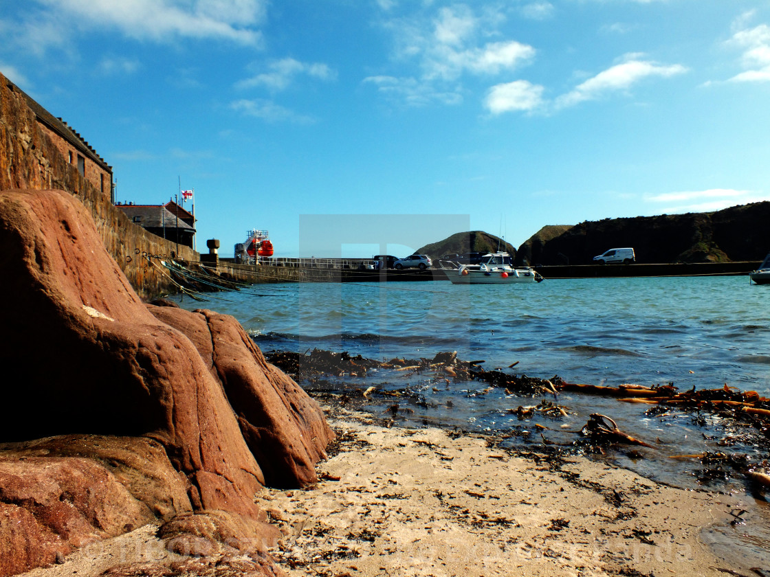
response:
<svg viewBox="0 0 770 577"><path fill-rule="evenodd" d="M0 575L189 512L186 488L152 439L65 435L0 445Z"/></svg>

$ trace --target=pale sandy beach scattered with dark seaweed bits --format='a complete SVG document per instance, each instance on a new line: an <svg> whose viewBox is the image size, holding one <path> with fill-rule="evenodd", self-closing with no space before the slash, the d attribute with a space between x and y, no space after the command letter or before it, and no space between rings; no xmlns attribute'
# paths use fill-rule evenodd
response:
<svg viewBox="0 0 770 577"><path fill-rule="evenodd" d="M289 575L752 574L701 542L701 531L741 509L735 497L579 457L511 456L480 436L335 414L339 439L318 466L322 481L256 495L285 535L270 552ZM154 529L25 575L91 577L122 562L182 559Z"/></svg>

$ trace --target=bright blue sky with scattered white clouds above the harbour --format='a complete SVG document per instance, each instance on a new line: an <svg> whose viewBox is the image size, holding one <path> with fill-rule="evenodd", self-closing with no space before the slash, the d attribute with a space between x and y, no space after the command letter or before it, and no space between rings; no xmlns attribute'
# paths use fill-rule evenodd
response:
<svg viewBox="0 0 770 577"><path fill-rule="evenodd" d="M517 246L770 200L766 0L0 0L0 37L119 200L195 188L204 251L266 228L276 255L403 256L458 222ZM317 215L377 225L309 247Z"/></svg>

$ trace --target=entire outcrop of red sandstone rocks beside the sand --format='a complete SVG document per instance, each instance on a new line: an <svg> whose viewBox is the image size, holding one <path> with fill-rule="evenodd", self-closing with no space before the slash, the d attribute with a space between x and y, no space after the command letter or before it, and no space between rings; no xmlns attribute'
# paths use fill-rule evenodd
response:
<svg viewBox="0 0 770 577"><path fill-rule="evenodd" d="M72 195L0 192L0 246L0 575L149 522L169 551L280 575L254 495L316 482L318 405L232 317L143 303Z"/></svg>

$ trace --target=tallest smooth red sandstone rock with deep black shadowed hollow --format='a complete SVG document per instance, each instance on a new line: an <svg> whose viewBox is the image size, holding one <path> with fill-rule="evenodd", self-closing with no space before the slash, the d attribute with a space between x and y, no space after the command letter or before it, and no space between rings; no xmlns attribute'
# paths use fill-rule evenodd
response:
<svg viewBox="0 0 770 577"><path fill-rule="evenodd" d="M200 501L263 519L263 482L222 388L192 343L147 311L85 208L58 191L0 194L0 297L15 302L0 360L24 366L2 391L19 422L0 439L92 432L147 435L177 469L219 477ZM40 362L45 359L45 362ZM19 424L20 423L20 424Z"/></svg>

